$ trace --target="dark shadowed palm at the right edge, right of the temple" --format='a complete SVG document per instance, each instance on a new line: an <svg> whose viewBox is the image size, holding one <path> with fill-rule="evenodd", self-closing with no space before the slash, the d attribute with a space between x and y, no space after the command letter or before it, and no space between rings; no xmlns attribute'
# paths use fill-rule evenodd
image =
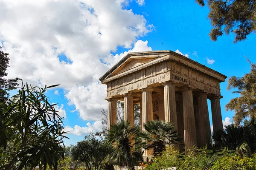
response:
<svg viewBox="0 0 256 170"><path fill-rule="evenodd" d="M225 125L224 129L212 133L215 147L226 147L244 156L250 156L256 151L256 135L253 126Z"/></svg>

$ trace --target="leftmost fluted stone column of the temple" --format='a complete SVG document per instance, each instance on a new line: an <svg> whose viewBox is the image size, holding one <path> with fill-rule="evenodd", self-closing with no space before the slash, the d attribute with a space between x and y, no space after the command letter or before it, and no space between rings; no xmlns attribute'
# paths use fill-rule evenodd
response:
<svg viewBox="0 0 256 170"><path fill-rule="evenodd" d="M111 125L116 125L116 99L108 99L108 130Z"/></svg>

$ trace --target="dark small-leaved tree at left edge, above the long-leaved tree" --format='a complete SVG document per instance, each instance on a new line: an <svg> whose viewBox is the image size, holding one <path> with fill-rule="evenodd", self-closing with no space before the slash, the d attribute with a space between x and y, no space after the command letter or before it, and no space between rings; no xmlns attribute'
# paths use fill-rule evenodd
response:
<svg viewBox="0 0 256 170"><path fill-rule="evenodd" d="M0 47L0 102L6 101L9 94L7 90L14 89L18 85L17 80L15 79L4 79L3 77L7 76L6 69L9 67L9 58L7 53L4 53Z"/></svg>

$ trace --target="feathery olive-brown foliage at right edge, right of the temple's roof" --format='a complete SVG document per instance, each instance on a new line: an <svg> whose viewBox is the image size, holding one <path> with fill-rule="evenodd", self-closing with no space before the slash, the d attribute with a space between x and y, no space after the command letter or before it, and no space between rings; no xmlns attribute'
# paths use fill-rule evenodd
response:
<svg viewBox="0 0 256 170"><path fill-rule="evenodd" d="M235 111L233 117L235 125L239 125L247 117L256 119L256 65L252 62L250 64L250 73L245 74L244 77L233 76L228 79L227 90L236 88L237 91L233 93L240 94L225 106L227 111Z"/></svg>

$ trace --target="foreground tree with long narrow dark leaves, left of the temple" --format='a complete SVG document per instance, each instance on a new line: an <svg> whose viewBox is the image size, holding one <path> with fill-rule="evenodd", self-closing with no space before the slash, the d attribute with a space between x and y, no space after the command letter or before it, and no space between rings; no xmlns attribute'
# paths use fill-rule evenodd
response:
<svg viewBox="0 0 256 170"><path fill-rule="evenodd" d="M57 169L64 157L64 127L56 104L44 88L22 85L19 93L0 103L0 169Z"/></svg>

